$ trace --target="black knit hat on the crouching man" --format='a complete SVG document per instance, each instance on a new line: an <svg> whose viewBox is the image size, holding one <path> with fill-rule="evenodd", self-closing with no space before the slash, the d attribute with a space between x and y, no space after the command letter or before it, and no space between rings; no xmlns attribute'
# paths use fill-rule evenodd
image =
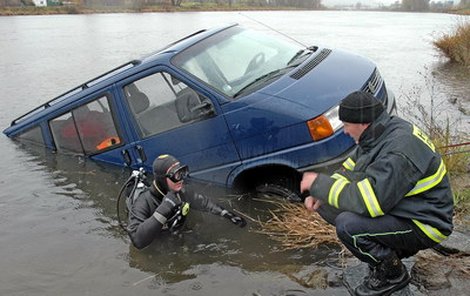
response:
<svg viewBox="0 0 470 296"><path fill-rule="evenodd" d="M356 91L346 96L339 105L339 119L350 123L371 123L384 111L382 102L373 95Z"/></svg>

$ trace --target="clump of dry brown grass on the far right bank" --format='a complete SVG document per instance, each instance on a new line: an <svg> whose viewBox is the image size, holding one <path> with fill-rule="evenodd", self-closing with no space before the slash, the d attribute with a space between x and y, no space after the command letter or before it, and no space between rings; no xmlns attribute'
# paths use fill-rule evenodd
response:
<svg viewBox="0 0 470 296"><path fill-rule="evenodd" d="M454 32L443 34L433 44L451 61L470 67L470 22L459 23Z"/></svg>

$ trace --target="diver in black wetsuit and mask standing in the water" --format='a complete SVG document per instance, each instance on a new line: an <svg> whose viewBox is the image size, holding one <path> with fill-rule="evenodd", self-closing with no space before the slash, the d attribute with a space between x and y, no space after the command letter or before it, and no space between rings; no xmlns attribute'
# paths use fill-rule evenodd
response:
<svg viewBox="0 0 470 296"><path fill-rule="evenodd" d="M188 167L175 157L164 154L153 162L154 179L149 186L140 182L139 190L128 197L127 232L132 244L143 249L158 239L162 232L179 229L190 208L207 211L229 219L239 227L246 225L245 219L212 202L207 196L185 186Z"/></svg>

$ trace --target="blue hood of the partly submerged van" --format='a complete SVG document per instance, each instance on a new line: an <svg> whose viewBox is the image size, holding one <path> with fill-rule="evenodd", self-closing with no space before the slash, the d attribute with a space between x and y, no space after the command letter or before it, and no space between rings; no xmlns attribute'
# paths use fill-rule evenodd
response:
<svg viewBox="0 0 470 296"><path fill-rule="evenodd" d="M370 60L341 50L330 51L318 64L315 58L259 93L314 110L317 114L312 115L316 116L338 105L351 92L362 89L375 69Z"/></svg>

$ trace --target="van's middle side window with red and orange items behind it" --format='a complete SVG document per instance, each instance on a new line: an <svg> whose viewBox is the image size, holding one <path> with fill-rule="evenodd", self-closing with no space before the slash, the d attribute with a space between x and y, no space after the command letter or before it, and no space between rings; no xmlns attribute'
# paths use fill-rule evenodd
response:
<svg viewBox="0 0 470 296"><path fill-rule="evenodd" d="M121 143L105 96L54 118L50 127L57 150L94 154Z"/></svg>

